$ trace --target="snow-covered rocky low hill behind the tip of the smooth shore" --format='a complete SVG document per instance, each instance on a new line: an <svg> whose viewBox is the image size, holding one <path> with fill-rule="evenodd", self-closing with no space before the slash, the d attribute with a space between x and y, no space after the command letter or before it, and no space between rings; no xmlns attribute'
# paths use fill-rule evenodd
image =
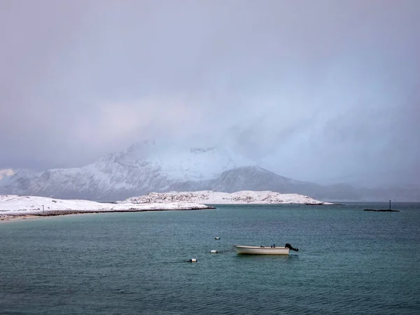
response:
<svg viewBox="0 0 420 315"><path fill-rule="evenodd" d="M148 202L197 202L200 204L332 204L298 194L281 194L272 191L243 190L237 193L220 193L210 190L196 192L149 193L130 197L121 203L144 204Z"/></svg>

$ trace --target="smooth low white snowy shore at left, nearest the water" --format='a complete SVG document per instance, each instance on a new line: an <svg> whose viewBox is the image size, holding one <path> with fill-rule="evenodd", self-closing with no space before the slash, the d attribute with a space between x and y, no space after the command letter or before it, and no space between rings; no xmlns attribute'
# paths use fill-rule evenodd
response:
<svg viewBox="0 0 420 315"><path fill-rule="evenodd" d="M52 214L59 211L113 212L113 211L150 211L150 210L190 210L211 207L194 202L167 202L163 204L102 203L88 200L60 200L47 197L0 195L0 216L25 216L31 214Z"/></svg>

